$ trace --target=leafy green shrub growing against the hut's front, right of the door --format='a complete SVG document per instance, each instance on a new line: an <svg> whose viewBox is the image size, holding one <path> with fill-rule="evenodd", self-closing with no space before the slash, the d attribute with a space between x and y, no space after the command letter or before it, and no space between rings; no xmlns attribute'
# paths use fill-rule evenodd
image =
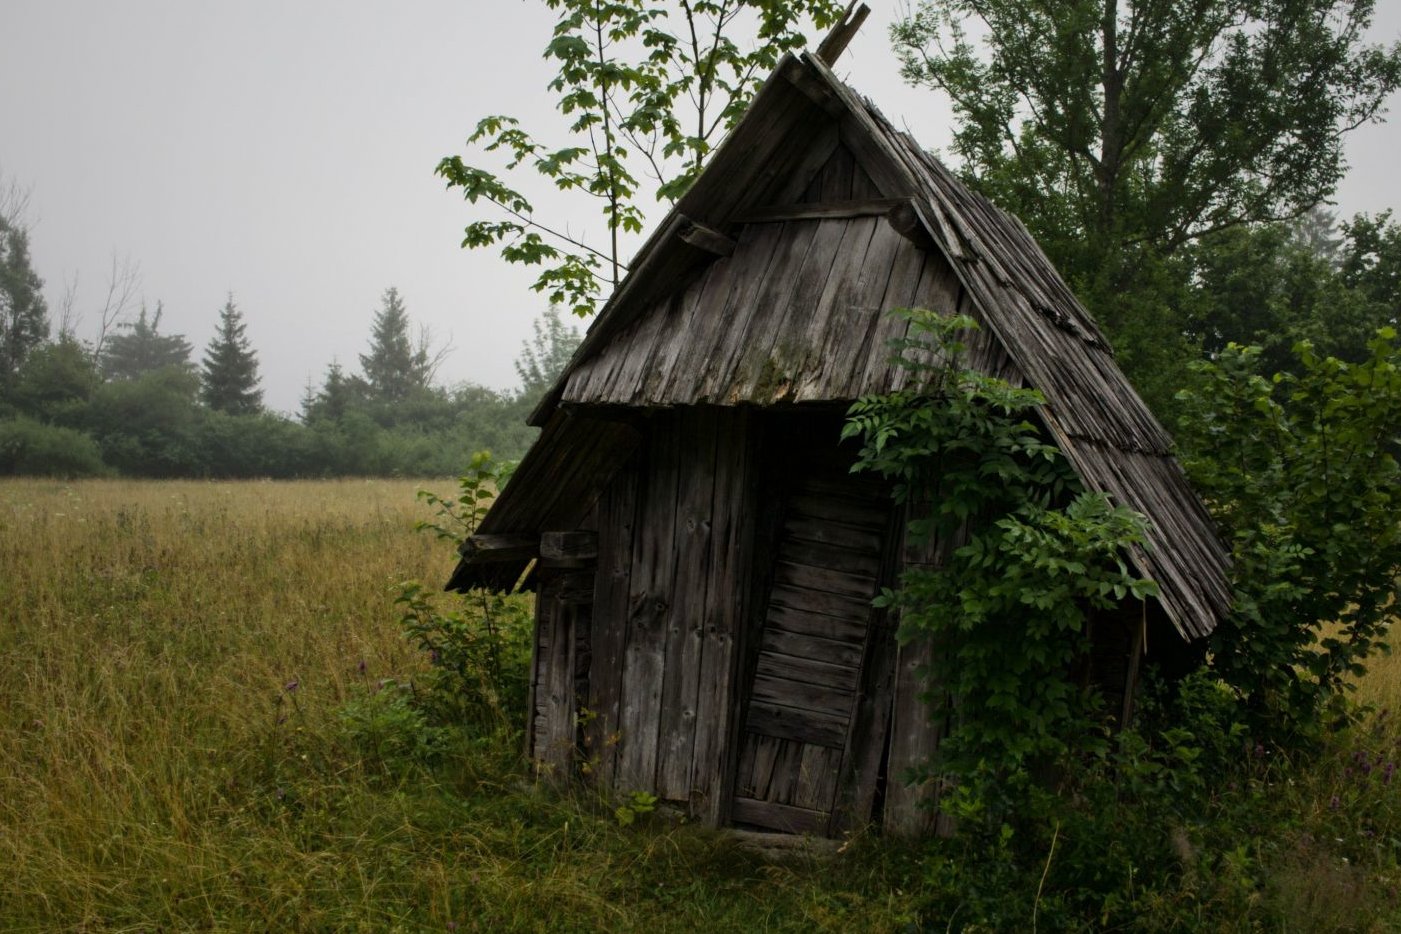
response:
<svg viewBox="0 0 1401 934"><path fill-rule="evenodd" d="M1072 669L1093 611L1156 594L1125 562L1143 520L1080 490L1034 421L1038 392L964 365L971 318L898 314L913 385L853 403L843 437L863 441L857 469L894 480L911 541L936 559L877 604L898 608L901 640L936 646L933 713L954 709L936 769L958 786L955 811L996 826L1034 772L1097 741Z"/></svg>

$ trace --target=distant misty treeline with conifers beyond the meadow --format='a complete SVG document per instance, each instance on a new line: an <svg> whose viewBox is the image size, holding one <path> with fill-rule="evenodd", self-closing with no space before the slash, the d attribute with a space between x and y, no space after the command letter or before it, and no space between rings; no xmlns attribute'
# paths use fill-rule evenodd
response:
<svg viewBox="0 0 1401 934"><path fill-rule="evenodd" d="M17 246L22 231L10 235L0 272L27 270ZM433 378L441 354L410 339L389 288L359 370L331 364L289 417L262 405L256 353L231 295L196 364L184 336L161 332L158 305L97 342L62 328L50 339L32 272L28 281L20 301L14 288L6 298L8 323L25 326L0 335L0 475L450 476L474 451L524 454L535 434L525 416L579 342L551 309L516 361L518 389L443 386Z"/></svg>

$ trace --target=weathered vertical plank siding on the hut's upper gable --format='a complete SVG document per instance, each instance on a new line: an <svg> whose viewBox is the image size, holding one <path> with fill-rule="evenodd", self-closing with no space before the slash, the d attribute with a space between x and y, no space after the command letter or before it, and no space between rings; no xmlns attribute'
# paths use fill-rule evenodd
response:
<svg viewBox="0 0 1401 934"><path fill-rule="evenodd" d="M878 193L838 146L793 204L850 204ZM855 210L855 209L843 209ZM841 211L838 211L841 213ZM883 214L745 224L730 256L657 300L576 365L565 402L736 405L855 399L904 385L890 342L906 322L885 312L962 309L939 252L902 237ZM969 363L1020 379L989 332L969 337Z"/></svg>

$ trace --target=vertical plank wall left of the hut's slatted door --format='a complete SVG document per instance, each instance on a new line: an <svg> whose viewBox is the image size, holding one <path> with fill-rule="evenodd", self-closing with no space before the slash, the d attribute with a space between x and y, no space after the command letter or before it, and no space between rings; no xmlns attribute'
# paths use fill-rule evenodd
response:
<svg viewBox="0 0 1401 934"><path fill-rule="evenodd" d="M600 500L587 770L719 821L748 585L752 419L657 413Z"/></svg>

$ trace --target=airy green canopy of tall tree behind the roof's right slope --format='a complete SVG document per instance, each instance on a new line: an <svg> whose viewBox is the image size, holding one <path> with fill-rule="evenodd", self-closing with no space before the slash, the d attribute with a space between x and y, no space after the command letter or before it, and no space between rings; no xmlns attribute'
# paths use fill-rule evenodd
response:
<svg viewBox="0 0 1401 934"><path fill-rule="evenodd" d="M892 38L905 77L953 101L967 175L1093 279L1122 246L1325 199L1344 136L1401 84L1401 43L1362 41L1373 6L925 0Z"/></svg>

